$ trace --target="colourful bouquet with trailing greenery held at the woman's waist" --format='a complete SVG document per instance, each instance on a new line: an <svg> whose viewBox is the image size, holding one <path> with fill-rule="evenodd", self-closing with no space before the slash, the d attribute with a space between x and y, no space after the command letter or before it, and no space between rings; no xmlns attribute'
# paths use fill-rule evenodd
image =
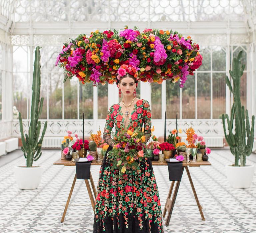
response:
<svg viewBox="0 0 256 233"><path fill-rule="evenodd" d="M111 168L120 169L125 173L126 169L133 168L139 169L139 161L142 161L144 157L150 157L145 148L144 132L134 130L126 131L122 129L114 137L116 144L113 149L108 152L108 158L111 162Z"/></svg>

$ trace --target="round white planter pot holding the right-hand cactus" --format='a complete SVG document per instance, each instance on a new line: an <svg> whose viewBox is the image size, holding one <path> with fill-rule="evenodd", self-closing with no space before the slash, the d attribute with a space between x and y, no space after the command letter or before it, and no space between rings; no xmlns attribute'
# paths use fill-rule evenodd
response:
<svg viewBox="0 0 256 233"><path fill-rule="evenodd" d="M249 188L253 180L253 174L253 165L244 167L226 165L227 179L232 188Z"/></svg>

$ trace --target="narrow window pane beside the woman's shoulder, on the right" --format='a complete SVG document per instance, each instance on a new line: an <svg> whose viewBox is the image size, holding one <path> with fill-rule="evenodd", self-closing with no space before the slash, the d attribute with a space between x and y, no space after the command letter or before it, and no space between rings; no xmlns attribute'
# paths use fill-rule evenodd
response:
<svg viewBox="0 0 256 233"><path fill-rule="evenodd" d="M151 84L151 113L152 119L162 118L162 85Z"/></svg>

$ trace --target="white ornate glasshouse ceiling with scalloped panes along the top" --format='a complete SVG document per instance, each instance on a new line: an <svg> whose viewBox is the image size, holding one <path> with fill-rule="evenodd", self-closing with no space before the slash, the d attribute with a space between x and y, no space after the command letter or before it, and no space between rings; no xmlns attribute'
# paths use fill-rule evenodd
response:
<svg viewBox="0 0 256 233"><path fill-rule="evenodd" d="M51 33L54 28L70 34L74 28L115 28L131 22L155 28L159 22L183 28L218 28L225 22L225 28L248 33L256 23L255 0L0 0L0 7L1 28L11 34Z"/></svg>

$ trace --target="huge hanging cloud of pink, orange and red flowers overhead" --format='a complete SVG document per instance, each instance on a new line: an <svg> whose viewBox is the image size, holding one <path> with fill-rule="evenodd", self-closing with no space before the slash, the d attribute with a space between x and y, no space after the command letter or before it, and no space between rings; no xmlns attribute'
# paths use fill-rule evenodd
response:
<svg viewBox="0 0 256 233"><path fill-rule="evenodd" d="M76 76L83 84L113 84L120 66L134 66L138 80L161 84L163 80L179 83L182 88L188 75L202 64L198 44L172 30L137 27L124 31L109 30L84 34L65 43L56 66L64 68L65 79Z"/></svg>

